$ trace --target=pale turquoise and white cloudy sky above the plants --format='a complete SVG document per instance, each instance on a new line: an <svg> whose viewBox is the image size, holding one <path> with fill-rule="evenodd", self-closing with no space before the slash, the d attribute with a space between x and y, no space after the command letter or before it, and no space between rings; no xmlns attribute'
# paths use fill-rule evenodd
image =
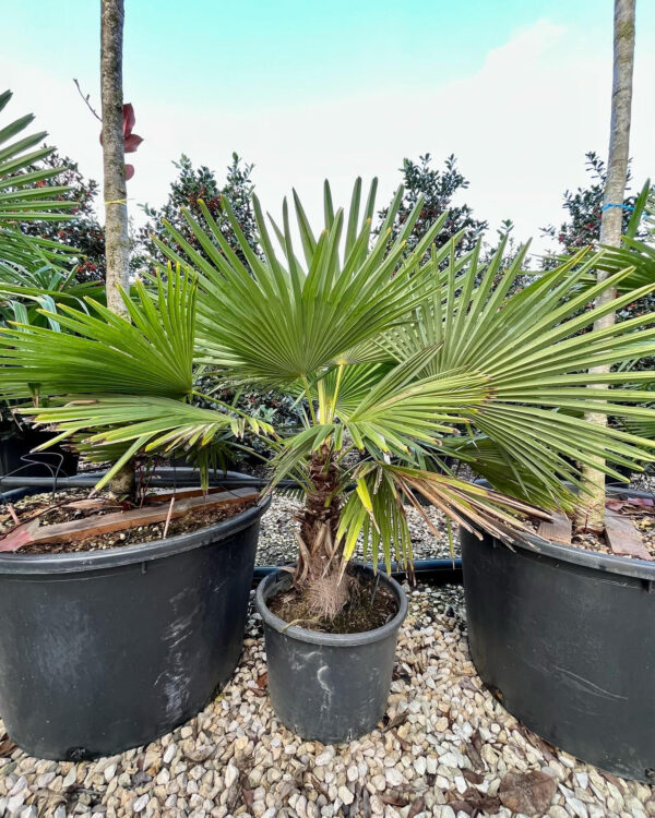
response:
<svg viewBox="0 0 655 818"><path fill-rule="evenodd" d="M27 111L49 141L102 180L99 2L0 0L5 115ZM126 101L144 137L130 156L130 213L163 203L181 153L224 178L231 152L254 163L266 209L291 187L321 217L321 185L346 202L353 180L380 178L379 204L403 157L451 153L465 200L520 239L563 216L585 182L584 154L607 154L611 0L126 1ZM655 177L655 2L638 0L633 187ZM4 123L4 120L3 120Z"/></svg>

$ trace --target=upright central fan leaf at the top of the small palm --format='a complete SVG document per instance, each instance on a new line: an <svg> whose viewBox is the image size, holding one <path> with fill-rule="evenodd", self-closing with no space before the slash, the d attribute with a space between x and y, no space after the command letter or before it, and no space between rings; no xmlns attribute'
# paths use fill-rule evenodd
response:
<svg viewBox="0 0 655 818"><path fill-rule="evenodd" d="M168 231L179 252L154 239L174 263L191 263L199 274L196 344L201 360L228 369L235 377L277 387L314 381L326 368L347 360L358 345L406 316L424 297L426 286L431 286L431 264L425 263L424 254L443 219L406 255L406 238L420 207L390 242L401 201L396 196L371 249L376 188L373 182L361 207L361 181L357 180L346 218L342 209L334 212L325 185L325 227L318 238L294 194L302 258L294 246L286 201L282 225L271 220L272 234L257 196L253 204L262 257L249 246L225 200L223 208L239 241L239 255L202 202L205 227L187 210L184 217L211 262L171 226ZM283 258L274 250L275 238Z"/></svg>

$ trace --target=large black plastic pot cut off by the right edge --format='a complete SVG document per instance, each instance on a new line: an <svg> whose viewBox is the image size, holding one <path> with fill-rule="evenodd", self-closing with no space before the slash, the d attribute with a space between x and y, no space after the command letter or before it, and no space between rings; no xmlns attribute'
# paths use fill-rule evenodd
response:
<svg viewBox="0 0 655 818"><path fill-rule="evenodd" d="M639 492L630 492L634 496ZM473 661L543 738L655 781L655 564L461 531Z"/></svg>

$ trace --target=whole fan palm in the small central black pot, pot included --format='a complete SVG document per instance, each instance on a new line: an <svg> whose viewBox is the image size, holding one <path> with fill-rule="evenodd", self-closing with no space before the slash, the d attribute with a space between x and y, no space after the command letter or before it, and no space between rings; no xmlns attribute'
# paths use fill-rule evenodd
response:
<svg viewBox="0 0 655 818"><path fill-rule="evenodd" d="M240 254L201 202L204 225L184 215L206 256L169 227L170 245L159 249L171 265L159 270L153 294L139 285L138 302L126 296L129 321L78 317L66 340L45 328L5 332L1 341L4 392L24 397L28 384L39 384L41 406L29 417L57 424L63 437L123 447L105 479L138 452L202 450L226 423L243 429L246 418L189 402L191 356L218 384L298 396L302 428L275 442L269 486L290 479L305 497L298 558L293 572L264 580L257 604L279 718L330 742L372 729L384 710L406 611L389 568L392 555L412 560L406 502L420 510L419 498L427 501L476 537L485 530L499 542L527 540L529 516L550 519L538 506L574 501L565 484L577 478L574 461L602 453L610 462L639 462L653 447L579 417L598 405L586 366L599 357L651 353L651 332L640 329L651 317L600 335L580 330L598 310L655 285L581 312L595 290L579 285L595 260L579 254L508 297L525 248L508 267L502 245L485 264L479 246L455 257L457 237L436 249L444 215L407 253L421 202L391 240L402 190L373 237L374 193L373 182L362 208L357 180L345 215L326 184L319 236L295 196L299 252L286 202L270 230L254 199L261 255L228 202L222 206ZM136 344L140 334L147 345ZM603 411L653 417L640 407L641 390L618 392ZM429 468L449 457L473 465L493 488L448 466ZM349 562L358 544L371 569ZM376 573L380 557L386 574Z"/></svg>

